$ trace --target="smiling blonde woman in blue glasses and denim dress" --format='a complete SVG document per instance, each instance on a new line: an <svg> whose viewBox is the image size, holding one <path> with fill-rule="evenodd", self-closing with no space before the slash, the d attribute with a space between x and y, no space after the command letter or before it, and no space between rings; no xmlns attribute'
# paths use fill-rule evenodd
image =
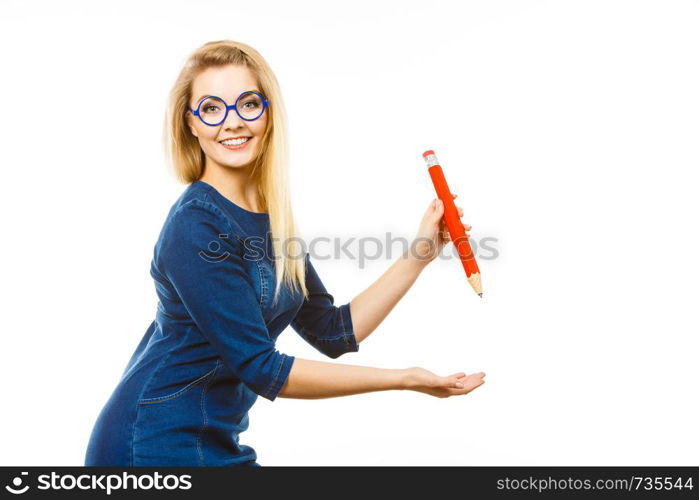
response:
<svg viewBox="0 0 699 500"><path fill-rule="evenodd" d="M275 349L291 325L330 358L358 351L448 237L434 200L414 251L335 306L295 237L281 92L252 47L217 41L196 50L171 91L166 131L188 187L154 248L156 318L97 419L85 465L258 466L255 450L239 442L258 396L410 389L447 397L483 384L482 372L437 376Z"/></svg>

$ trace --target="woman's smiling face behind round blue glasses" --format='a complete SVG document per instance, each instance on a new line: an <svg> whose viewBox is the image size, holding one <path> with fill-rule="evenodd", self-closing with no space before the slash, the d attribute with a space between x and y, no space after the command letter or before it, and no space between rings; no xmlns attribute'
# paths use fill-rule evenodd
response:
<svg viewBox="0 0 699 500"><path fill-rule="evenodd" d="M230 106L246 90L262 93L248 68L232 64L208 68L197 75L192 82L189 106L197 109L201 98L208 95L221 97ZM249 165L257 157L262 135L267 126L267 113L268 110L265 109L257 120L246 121L231 109L223 123L211 127L188 112L187 123L192 134L199 139L199 145L206 155L207 165L239 168ZM242 149L234 149L238 146L226 147L221 144L224 140L240 137L249 138Z"/></svg>

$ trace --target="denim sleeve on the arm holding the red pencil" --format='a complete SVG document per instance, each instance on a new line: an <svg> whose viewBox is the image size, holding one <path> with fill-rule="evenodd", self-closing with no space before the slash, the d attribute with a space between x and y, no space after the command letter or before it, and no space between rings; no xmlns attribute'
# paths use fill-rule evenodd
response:
<svg viewBox="0 0 699 500"><path fill-rule="evenodd" d="M349 303L334 305L306 253L308 298L291 320L291 327L309 344L330 358L359 351Z"/></svg>

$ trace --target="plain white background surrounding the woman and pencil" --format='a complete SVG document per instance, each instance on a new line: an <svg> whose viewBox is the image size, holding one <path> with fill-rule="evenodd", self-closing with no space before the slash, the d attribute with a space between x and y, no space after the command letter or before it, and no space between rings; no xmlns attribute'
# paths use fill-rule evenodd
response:
<svg viewBox="0 0 699 500"><path fill-rule="evenodd" d="M257 48L290 117L304 236L411 237L434 149L484 298L436 261L360 352L487 373L448 399L259 398L262 465L697 465L696 1L0 4L2 465L82 465L147 326L186 56ZM449 247L448 247L449 248ZM395 261L316 261L336 304Z"/></svg>

